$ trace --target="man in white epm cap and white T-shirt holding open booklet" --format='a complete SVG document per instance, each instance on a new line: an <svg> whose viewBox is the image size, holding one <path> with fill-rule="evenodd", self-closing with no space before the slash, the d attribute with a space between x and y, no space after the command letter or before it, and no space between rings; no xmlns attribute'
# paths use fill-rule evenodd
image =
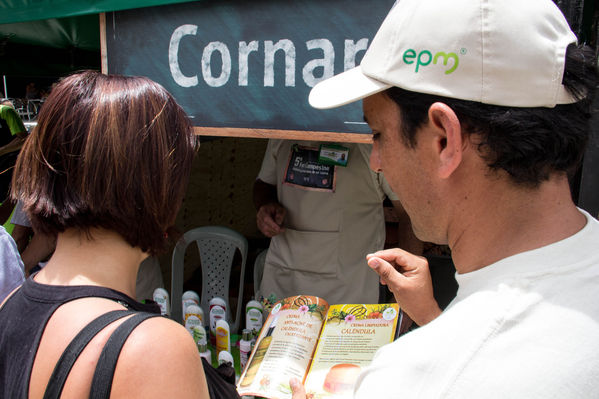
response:
<svg viewBox="0 0 599 399"><path fill-rule="evenodd" d="M576 41L551 0L401 0L360 67L310 93L317 108L364 99L371 167L457 270L441 312L425 260L368 255L421 327L378 351L356 398L599 392L599 222L568 184L597 55Z"/></svg>

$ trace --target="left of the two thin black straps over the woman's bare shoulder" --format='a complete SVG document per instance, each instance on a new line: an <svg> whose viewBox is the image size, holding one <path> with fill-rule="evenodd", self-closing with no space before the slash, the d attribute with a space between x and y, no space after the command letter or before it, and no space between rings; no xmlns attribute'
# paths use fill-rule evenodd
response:
<svg viewBox="0 0 599 399"><path fill-rule="evenodd" d="M56 363L56 367L54 367L52 376L48 381L46 392L44 393L44 399L60 398L62 389L64 388L64 384L71 371L71 368L73 367L73 364L75 364L75 361L83 349L85 349L87 344L89 344L96 334L98 334L110 323L133 313L134 312L128 310L114 310L97 317L87 326L85 326L69 343L65 351L60 356L60 359Z"/></svg>

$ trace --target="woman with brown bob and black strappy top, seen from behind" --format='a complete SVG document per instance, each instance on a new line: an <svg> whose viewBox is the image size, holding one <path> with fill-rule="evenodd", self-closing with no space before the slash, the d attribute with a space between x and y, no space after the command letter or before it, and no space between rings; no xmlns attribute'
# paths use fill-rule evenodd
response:
<svg viewBox="0 0 599 399"><path fill-rule="evenodd" d="M100 353L111 356L108 337L135 317L123 311L156 311L132 299L137 271L167 246L195 149L185 112L150 79L82 72L52 90L12 195L37 231L57 235L56 251L0 308L0 397L41 398L61 375L53 392L88 397L92 379L104 381ZM51 378L73 338L107 313L119 318ZM172 320L145 319L116 353L114 371L99 373L110 397L208 397L193 339Z"/></svg>

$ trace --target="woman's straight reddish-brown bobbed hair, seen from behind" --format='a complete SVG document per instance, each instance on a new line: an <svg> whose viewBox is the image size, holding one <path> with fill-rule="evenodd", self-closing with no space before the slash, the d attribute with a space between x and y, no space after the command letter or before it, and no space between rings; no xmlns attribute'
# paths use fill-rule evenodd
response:
<svg viewBox="0 0 599 399"><path fill-rule="evenodd" d="M189 119L159 84L77 73L42 106L17 160L12 196L38 231L104 228L157 254L167 245L195 147Z"/></svg>

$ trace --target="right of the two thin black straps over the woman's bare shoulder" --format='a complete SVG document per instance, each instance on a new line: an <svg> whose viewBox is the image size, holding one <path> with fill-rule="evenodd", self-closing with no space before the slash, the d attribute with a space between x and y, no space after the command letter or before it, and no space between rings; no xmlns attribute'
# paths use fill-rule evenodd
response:
<svg viewBox="0 0 599 399"><path fill-rule="evenodd" d="M91 391L89 393L90 399L110 398L116 362L129 334L131 334L133 329L144 320L158 316L160 316L160 314L136 313L134 316L121 323L121 325L112 333L98 359L98 365L96 366Z"/></svg>

